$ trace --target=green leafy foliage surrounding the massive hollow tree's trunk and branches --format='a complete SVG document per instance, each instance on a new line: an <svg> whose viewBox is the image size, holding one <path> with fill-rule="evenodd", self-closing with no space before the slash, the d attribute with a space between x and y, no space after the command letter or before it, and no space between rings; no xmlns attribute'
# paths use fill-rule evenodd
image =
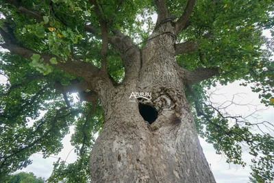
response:
<svg viewBox="0 0 274 183"><path fill-rule="evenodd" d="M0 74L8 81L0 86L0 141L4 142L0 146L0 177L8 178L9 173L26 167L31 163L29 156L37 151L42 151L45 158L58 154L62 138L69 134L69 127L74 126L71 142L79 158L72 164L65 160L54 164L49 181L86 182L89 180L89 151L95 141L94 135L103 127L103 111L99 101L92 104L74 101L71 93L68 106L64 95L57 92L56 84L69 86L73 80L82 78L54 66L73 58L101 66L102 41L95 7L86 0L6 2L0 1L3 18L0 27L4 29L5 24L10 25L21 45L40 54L34 53L29 61L6 51L1 53ZM157 13L154 1L98 2L109 30L120 29L138 47L145 45L154 27L152 14ZM186 2L166 1L175 19L182 14ZM24 14L16 7L18 3L42 19ZM199 42L199 50L177 56L178 64L190 71L218 66L221 72L186 90L195 112L197 131L214 145L217 154L225 154L227 162L242 167L246 166L242 160L242 143L247 143L249 154L254 156L253 177L258 182L270 182L274 178L273 136L251 133L252 121L236 118L229 123L229 117L210 103L206 90L218 83L225 85L240 80L243 86L253 84L251 90L259 94L262 103L274 106L274 64L270 60L273 40L262 36L263 29L273 34L273 3L270 0L199 0L190 20L190 26L176 41ZM86 32L83 25L92 25L99 34ZM108 34L113 33L109 31ZM266 49L262 49L264 44ZM51 54L49 63L41 58L43 53ZM108 48L107 56L108 73L119 84L124 77L121 57L112 47ZM93 111L95 106L97 110Z"/></svg>

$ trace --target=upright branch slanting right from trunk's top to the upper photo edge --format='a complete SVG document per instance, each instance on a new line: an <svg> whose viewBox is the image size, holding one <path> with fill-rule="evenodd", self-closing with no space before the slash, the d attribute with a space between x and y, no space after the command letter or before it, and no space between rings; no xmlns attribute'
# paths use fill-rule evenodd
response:
<svg viewBox="0 0 274 183"><path fill-rule="evenodd" d="M176 22L175 27L175 34L179 34L183 29L186 29L187 25L189 24L189 16L194 8L195 0L188 0L188 3L186 5L186 8L184 9L184 13L179 18L179 20Z"/></svg>

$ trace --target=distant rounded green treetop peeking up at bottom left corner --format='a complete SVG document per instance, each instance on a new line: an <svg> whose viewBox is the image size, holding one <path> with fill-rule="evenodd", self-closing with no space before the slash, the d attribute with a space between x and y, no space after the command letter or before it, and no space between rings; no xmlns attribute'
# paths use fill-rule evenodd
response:
<svg viewBox="0 0 274 183"><path fill-rule="evenodd" d="M42 178L36 178L36 176L32 172L30 173L20 172L14 175L10 175L9 180L6 183L29 183L29 182L44 183L45 180L43 180Z"/></svg>

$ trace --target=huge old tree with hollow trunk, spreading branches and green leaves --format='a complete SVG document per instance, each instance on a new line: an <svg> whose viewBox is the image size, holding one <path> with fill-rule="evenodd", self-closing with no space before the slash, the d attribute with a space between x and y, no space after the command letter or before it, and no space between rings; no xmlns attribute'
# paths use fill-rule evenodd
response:
<svg viewBox="0 0 274 183"><path fill-rule="evenodd" d="M245 143L253 177L273 180L273 136L250 131L272 124L222 114L206 95L241 80L273 106L271 1L1 0L1 12L1 177L57 154L75 125L79 158L49 182L215 182L198 134L242 167Z"/></svg>

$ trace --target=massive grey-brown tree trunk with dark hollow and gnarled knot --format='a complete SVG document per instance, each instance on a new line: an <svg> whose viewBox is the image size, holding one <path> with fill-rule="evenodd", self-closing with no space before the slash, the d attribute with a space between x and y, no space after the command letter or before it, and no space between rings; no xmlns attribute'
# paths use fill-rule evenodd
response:
<svg viewBox="0 0 274 183"><path fill-rule="evenodd" d="M172 32L158 29L141 51L123 57L140 63L126 71L131 77L99 93L105 123L91 152L92 182L215 182L186 101L174 43ZM132 101L132 92L151 93L152 99Z"/></svg>

